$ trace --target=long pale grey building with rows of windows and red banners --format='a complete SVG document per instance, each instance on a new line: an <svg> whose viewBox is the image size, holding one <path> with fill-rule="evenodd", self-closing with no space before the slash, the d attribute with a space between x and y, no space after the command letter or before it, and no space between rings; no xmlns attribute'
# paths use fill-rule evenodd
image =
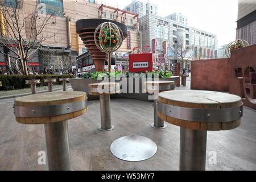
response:
<svg viewBox="0 0 256 182"><path fill-rule="evenodd" d="M163 64L164 55L166 61L174 59L175 40L183 48L189 47L189 51L185 54L185 58L189 60L217 57L217 36L212 33L152 14L140 18L139 24L142 32L142 47L150 46L151 51L156 55L156 62L161 61L160 64Z"/></svg>

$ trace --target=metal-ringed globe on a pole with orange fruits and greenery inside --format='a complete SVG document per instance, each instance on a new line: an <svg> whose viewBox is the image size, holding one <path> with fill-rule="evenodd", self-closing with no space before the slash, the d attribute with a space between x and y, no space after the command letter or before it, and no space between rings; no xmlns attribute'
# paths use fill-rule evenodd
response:
<svg viewBox="0 0 256 182"><path fill-rule="evenodd" d="M94 32L94 42L100 51L108 53L108 72L110 72L111 53L117 51L123 43L121 28L112 22L101 23Z"/></svg>

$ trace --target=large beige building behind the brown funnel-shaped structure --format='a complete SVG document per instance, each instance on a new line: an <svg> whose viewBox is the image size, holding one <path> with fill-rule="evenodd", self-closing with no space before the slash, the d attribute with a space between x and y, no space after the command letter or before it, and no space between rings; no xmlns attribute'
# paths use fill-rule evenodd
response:
<svg viewBox="0 0 256 182"><path fill-rule="evenodd" d="M35 7L36 0L23 1L24 14L26 15ZM39 3L42 7L43 18L52 13L54 15L42 32L42 35L46 36L47 39L43 40L42 47L36 52L38 56L28 63L33 65L35 68L31 69L35 69L37 72L44 72L46 68L56 69L56 60L60 60L62 64L63 61L69 59L73 68L77 68L76 56L86 52L84 44L76 33L76 22L79 19L103 18L126 24L129 32L129 42L127 42L127 39L123 41L117 55L123 55L132 51L133 47L140 46L137 14L119 10L115 7L98 5L97 1L92 0L39 0ZM30 24L26 22L25 24L23 31L24 35L27 35L30 31ZM24 38L26 39L26 36ZM2 46L0 49L4 49L4 47ZM9 66L8 59L3 55L0 59L0 67L2 71L6 71L6 67Z"/></svg>

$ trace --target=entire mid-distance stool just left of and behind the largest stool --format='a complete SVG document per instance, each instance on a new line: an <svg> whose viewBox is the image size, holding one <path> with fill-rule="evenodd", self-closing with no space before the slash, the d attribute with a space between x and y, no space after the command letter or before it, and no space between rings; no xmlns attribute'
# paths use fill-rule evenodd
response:
<svg viewBox="0 0 256 182"><path fill-rule="evenodd" d="M144 82L144 91L148 93L154 93L154 123L151 127L155 129L165 129L167 127L163 119L158 117L158 93L167 90L174 90L174 81L146 81Z"/></svg>

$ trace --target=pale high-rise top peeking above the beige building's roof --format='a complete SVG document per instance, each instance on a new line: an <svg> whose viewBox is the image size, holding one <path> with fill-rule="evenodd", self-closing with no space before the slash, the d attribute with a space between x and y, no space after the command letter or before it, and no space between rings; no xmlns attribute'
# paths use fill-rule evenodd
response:
<svg viewBox="0 0 256 182"><path fill-rule="evenodd" d="M126 11L131 11L142 17L146 14L158 14L158 5L148 0L134 0L130 5L125 7Z"/></svg>

